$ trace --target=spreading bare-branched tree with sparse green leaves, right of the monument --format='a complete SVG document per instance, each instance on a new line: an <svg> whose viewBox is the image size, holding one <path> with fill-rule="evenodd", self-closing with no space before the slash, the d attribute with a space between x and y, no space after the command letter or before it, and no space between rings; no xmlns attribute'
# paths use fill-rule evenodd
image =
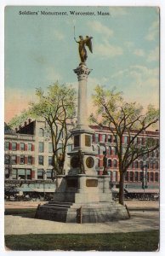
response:
<svg viewBox="0 0 165 256"><path fill-rule="evenodd" d="M136 102L125 102L121 92L104 90L100 85L95 88L93 96L97 107L97 118L91 114L94 123L107 125L116 138L117 157L119 164L119 203L123 205L124 177L134 160L149 154L159 147L159 141L145 137L145 142L139 144L137 137L142 136L147 129L159 121L159 111L152 105L147 110ZM123 135L128 136L127 143L122 142Z"/></svg>

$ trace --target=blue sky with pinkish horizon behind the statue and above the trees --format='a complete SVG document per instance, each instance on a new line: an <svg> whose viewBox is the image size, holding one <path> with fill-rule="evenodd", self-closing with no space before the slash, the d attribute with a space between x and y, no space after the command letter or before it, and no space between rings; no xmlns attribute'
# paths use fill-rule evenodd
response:
<svg viewBox="0 0 165 256"><path fill-rule="evenodd" d="M41 11L68 15L41 15ZM70 15L71 10L95 15ZM38 15L19 15L38 11ZM97 15L98 11L110 15ZM73 37L93 36L88 52L88 113L97 84L122 90L127 101L159 104L159 9L156 7L8 7L5 9L5 120L35 100L35 88L73 84L80 62Z"/></svg>

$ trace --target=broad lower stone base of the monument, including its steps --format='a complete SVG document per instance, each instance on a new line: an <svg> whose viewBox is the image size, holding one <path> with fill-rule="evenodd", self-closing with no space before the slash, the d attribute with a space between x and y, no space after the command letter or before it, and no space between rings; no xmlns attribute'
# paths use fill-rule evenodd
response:
<svg viewBox="0 0 165 256"><path fill-rule="evenodd" d="M60 176L54 201L37 209L37 218L67 223L104 223L127 219L125 207L112 201L109 176Z"/></svg>

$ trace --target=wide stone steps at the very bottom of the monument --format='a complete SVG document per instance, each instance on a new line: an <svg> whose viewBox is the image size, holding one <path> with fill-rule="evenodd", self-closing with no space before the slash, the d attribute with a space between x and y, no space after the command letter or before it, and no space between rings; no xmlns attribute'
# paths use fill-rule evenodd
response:
<svg viewBox="0 0 165 256"><path fill-rule="evenodd" d="M102 223L127 219L126 212L125 207L115 201L90 204L50 201L38 207L36 218L67 223Z"/></svg>

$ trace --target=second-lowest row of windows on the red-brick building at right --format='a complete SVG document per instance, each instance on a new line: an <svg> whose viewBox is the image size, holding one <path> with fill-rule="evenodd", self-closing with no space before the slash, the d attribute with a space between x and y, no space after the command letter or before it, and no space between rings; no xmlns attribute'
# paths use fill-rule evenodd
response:
<svg viewBox="0 0 165 256"><path fill-rule="evenodd" d="M158 169L159 168L159 164L158 162L149 162L149 161L146 161L145 162L145 165L146 165L146 168L147 169ZM96 167L103 167L103 164L101 166L101 161L100 159L96 159ZM108 159L107 160L107 167L113 167L113 168L117 168L117 160L111 160L111 159ZM131 169L142 169L143 167L143 161L134 161L134 163L129 166L129 168Z"/></svg>

